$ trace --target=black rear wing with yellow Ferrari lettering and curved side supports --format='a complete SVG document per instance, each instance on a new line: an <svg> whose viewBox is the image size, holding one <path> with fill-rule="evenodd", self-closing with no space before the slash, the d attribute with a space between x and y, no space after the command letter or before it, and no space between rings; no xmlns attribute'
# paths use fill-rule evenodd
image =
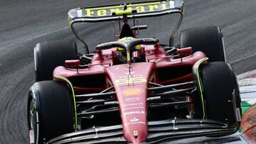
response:
<svg viewBox="0 0 256 144"><path fill-rule="evenodd" d="M158 0L100 7L83 7L71 9L68 11L68 22L70 23L76 38L82 42L87 50L87 53L89 53L89 48L85 43L85 40L83 40L82 36L79 35L77 31L75 31L73 26L74 23L95 23L100 21L122 20L124 18L146 18L153 16L163 16L171 13L179 13L181 14L181 17L178 20L177 26L171 33L171 37L169 39L169 45L171 46L173 44L174 34L178 30L179 26L181 26L183 11L183 0Z"/></svg>

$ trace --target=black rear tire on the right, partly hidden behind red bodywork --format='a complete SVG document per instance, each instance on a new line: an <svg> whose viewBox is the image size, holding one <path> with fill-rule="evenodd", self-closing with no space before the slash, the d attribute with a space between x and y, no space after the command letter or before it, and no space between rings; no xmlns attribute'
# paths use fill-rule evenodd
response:
<svg viewBox="0 0 256 144"><path fill-rule="evenodd" d="M208 62L225 62L223 33L218 26L181 31L181 48L186 47L192 47L193 52L204 52Z"/></svg>

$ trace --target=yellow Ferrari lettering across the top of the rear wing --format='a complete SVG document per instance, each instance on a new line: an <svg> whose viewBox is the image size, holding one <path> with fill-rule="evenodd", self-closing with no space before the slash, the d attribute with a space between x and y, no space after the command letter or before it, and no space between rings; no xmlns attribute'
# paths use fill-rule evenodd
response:
<svg viewBox="0 0 256 144"><path fill-rule="evenodd" d="M165 9L174 8L174 1L157 1L142 4L128 4L127 10L137 9L137 13L162 11ZM123 11L124 5L103 6L84 9L85 17L102 17L112 16L113 12Z"/></svg>

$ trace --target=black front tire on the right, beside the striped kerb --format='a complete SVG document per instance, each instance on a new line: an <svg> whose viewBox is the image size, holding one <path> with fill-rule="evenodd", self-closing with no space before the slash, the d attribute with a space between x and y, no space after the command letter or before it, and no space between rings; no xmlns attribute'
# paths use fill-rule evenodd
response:
<svg viewBox="0 0 256 144"><path fill-rule="evenodd" d="M206 118L239 127L236 116L241 113L240 93L232 67L226 62L210 62L199 70Z"/></svg>

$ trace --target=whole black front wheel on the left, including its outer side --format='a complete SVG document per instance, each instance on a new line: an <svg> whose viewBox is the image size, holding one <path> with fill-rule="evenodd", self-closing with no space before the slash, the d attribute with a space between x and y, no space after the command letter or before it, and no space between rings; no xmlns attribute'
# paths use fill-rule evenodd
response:
<svg viewBox="0 0 256 144"><path fill-rule="evenodd" d="M28 131L32 143L45 143L73 128L73 104L65 83L36 82L28 94Z"/></svg>

